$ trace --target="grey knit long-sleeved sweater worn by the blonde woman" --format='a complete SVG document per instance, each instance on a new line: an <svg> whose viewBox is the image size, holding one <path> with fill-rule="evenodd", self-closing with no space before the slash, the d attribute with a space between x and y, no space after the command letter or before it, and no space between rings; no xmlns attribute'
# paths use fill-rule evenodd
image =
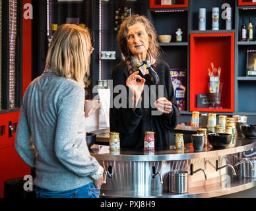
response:
<svg viewBox="0 0 256 211"><path fill-rule="evenodd" d="M34 185L67 191L100 178L103 168L90 156L85 130L84 89L78 82L43 73L30 83L22 100L15 148L28 166L36 167Z"/></svg>

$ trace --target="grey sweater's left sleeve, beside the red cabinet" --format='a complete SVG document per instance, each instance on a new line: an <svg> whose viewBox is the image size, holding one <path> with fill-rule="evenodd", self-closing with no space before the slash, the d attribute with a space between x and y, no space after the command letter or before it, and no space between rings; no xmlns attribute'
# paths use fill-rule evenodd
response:
<svg viewBox="0 0 256 211"><path fill-rule="evenodd" d="M25 94L26 95L26 94ZM24 95L24 98L25 98ZM31 134L28 127L28 119L26 115L26 109L24 101L20 109L20 117L18 119L18 128L15 136L15 149L20 158L24 160L30 167L35 166L35 156L31 149L32 143L30 142Z"/></svg>

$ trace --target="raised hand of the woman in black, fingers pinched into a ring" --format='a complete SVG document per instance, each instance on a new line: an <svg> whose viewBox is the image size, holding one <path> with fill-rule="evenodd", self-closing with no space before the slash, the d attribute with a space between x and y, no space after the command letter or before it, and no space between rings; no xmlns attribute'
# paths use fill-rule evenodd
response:
<svg viewBox="0 0 256 211"><path fill-rule="evenodd" d="M135 106L137 106L139 99L141 98L144 84L146 82L145 78L142 78L138 74L139 71L135 71L133 74L129 75L129 77L126 80L126 86L128 86L131 92L133 93L133 101L135 103ZM141 80L141 82L137 82L137 79Z"/></svg>

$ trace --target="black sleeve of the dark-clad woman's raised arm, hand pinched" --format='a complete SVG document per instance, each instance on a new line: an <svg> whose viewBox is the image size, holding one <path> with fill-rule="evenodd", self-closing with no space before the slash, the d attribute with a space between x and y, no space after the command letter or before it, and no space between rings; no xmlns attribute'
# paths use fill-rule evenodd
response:
<svg viewBox="0 0 256 211"><path fill-rule="evenodd" d="M113 69L113 107L110 108L110 131L124 134L133 133L143 117L141 107L135 109L129 107L129 88L126 86L128 72L127 74L126 72L125 65L117 65Z"/></svg>

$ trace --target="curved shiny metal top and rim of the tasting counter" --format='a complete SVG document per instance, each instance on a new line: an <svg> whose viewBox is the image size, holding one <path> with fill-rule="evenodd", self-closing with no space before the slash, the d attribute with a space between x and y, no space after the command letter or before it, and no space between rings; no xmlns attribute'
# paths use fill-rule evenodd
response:
<svg viewBox="0 0 256 211"><path fill-rule="evenodd" d="M237 138L233 148L215 149L211 147L203 148L202 152L194 152L193 144L185 144L184 150L176 150L175 146L161 148L153 153L146 153L143 150L124 149L119 152L110 152L109 146L96 145L90 148L91 156L96 160L104 161L169 161L169 160L191 160L195 158L209 158L244 152L256 147L256 138Z"/></svg>

